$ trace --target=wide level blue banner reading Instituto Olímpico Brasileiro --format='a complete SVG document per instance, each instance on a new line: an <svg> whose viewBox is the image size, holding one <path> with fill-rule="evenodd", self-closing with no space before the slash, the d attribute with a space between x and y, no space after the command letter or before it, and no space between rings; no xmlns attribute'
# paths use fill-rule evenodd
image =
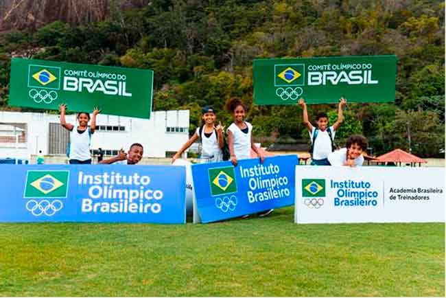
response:
<svg viewBox="0 0 446 298"><path fill-rule="evenodd" d="M184 167L0 165L0 176L0 222L186 222Z"/></svg>

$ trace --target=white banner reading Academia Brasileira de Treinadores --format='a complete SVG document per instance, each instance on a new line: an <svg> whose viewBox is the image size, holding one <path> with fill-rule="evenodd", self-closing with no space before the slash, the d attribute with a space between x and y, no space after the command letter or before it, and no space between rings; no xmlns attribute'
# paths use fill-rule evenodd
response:
<svg viewBox="0 0 446 298"><path fill-rule="evenodd" d="M445 222L445 169L296 166L296 223Z"/></svg>

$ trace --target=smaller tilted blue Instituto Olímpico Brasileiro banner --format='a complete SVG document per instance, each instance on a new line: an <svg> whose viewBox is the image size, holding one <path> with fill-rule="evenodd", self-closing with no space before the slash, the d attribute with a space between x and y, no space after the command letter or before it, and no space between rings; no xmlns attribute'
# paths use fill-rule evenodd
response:
<svg viewBox="0 0 446 298"><path fill-rule="evenodd" d="M202 222L294 205L296 155L192 165Z"/></svg>

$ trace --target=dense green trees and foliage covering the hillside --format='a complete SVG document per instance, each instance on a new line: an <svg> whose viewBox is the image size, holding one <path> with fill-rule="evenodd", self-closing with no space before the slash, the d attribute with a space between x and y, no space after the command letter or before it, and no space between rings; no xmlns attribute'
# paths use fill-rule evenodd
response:
<svg viewBox="0 0 446 298"><path fill-rule="evenodd" d="M253 59L396 54L395 104L349 104L337 142L362 132L373 153L399 147L438 156L445 143L444 8L439 0L154 0L139 10L112 10L98 23L54 22L1 35L0 104L7 103L15 52L153 69L154 108L190 109L191 131L200 106L222 111L228 98L239 96L257 137L308 138L301 108L253 105ZM310 117L319 111L336 106L309 106ZM218 117L231 121L226 112Z"/></svg>

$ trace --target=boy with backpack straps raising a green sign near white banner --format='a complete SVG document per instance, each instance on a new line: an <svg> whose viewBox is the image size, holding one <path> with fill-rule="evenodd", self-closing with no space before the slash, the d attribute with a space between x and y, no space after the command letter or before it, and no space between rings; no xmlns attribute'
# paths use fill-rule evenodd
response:
<svg viewBox="0 0 446 298"><path fill-rule="evenodd" d="M303 108L303 124L307 126L309 138L312 140L312 148L310 149L310 154L312 154L312 165L329 165L327 157L328 154L334 150L333 140L336 130L338 130L342 123L342 108L344 108L346 104L347 101L344 98L341 98L338 106L338 119L336 119L333 126L327 128L327 114L319 113L316 117L318 127L315 128L308 120L307 104L305 104L303 98L299 100L299 105Z"/></svg>

